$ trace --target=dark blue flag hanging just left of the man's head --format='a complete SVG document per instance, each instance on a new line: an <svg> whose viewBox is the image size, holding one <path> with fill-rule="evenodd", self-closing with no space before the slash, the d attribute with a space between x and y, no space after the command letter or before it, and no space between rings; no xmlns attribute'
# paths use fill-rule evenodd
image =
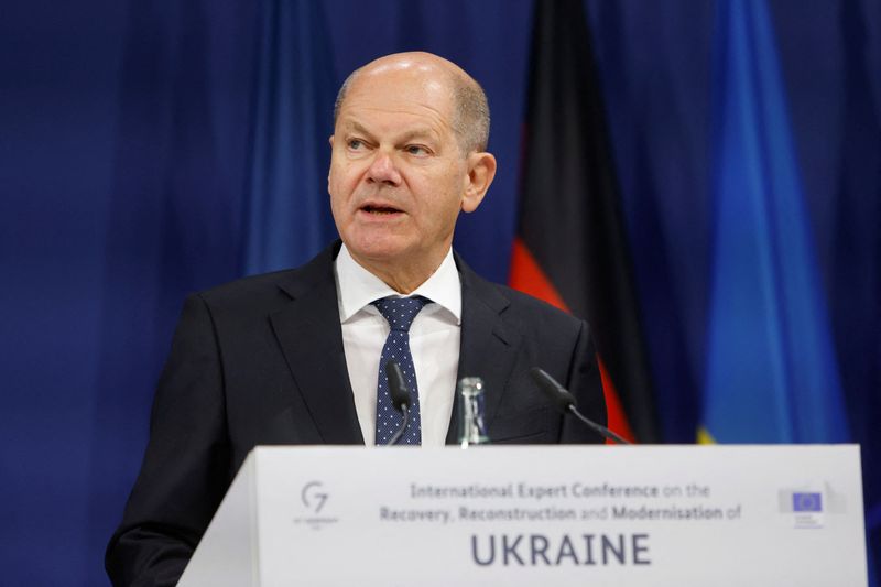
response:
<svg viewBox="0 0 881 587"><path fill-rule="evenodd" d="M262 12L244 196L246 274L302 264L336 236L320 197L337 90L323 4L265 0Z"/></svg>

